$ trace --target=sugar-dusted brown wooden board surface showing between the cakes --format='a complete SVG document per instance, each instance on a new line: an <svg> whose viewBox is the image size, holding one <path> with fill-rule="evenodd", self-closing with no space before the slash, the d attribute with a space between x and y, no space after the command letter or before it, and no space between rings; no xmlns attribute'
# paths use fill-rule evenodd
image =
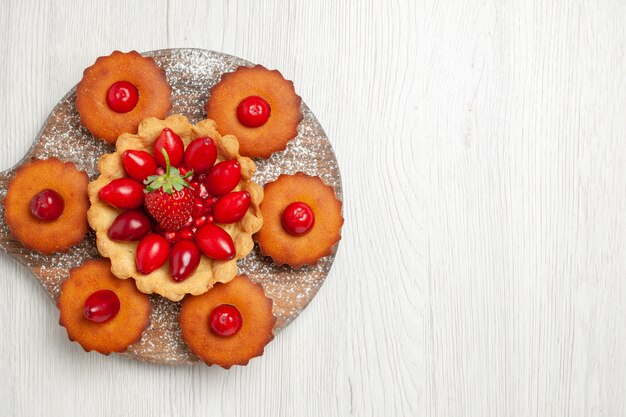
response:
<svg viewBox="0 0 626 417"><path fill-rule="evenodd" d="M222 74L234 71L238 66L252 65L234 56L200 49L169 49L144 55L152 56L166 72L173 89L171 113L181 113L192 123L205 117L204 103L209 89L219 81ZM18 165L28 162L31 157L57 157L74 162L91 180L98 176L98 159L102 154L113 152L113 147L94 139L80 125L80 118L74 107L75 99L75 89L72 89L53 109L33 147ZM253 180L264 185L280 174L301 171L321 177L335 189L337 197L341 199L341 177L330 142L304 103L302 112L304 118L298 127L298 136L284 151L275 153L267 160L255 160L257 172ZM14 174L15 169L11 169L0 175L0 182L3 182L0 199L6 196L8 181ZM99 257L93 232L88 233L81 244L64 254L44 256L29 251L11 237L4 222L2 205L0 214L0 247L28 266L54 301L59 296L60 284L69 276L71 268L79 266L87 259ZM263 257L255 246L248 257L239 261L240 272L260 283L266 294L273 299L273 310L277 317L274 333L296 318L315 296L332 266L334 257L335 251L314 266L294 270L287 266L276 266L270 258ZM161 364L190 364L197 361L180 337L180 303L157 295L151 296L151 301L153 307L149 328L141 340L131 345L123 355Z"/></svg>

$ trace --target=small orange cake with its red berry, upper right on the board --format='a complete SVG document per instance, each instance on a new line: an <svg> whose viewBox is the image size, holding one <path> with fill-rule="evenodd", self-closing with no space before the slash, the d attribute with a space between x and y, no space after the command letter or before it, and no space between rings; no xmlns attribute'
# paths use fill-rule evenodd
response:
<svg viewBox="0 0 626 417"><path fill-rule="evenodd" d="M226 73L210 91L207 117L239 139L242 155L269 158L298 134L302 99L293 82L261 65Z"/></svg>

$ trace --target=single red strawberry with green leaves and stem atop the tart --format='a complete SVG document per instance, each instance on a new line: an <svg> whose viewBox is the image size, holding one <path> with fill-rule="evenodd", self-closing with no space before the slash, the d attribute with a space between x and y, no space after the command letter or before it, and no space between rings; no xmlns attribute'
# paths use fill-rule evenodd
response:
<svg viewBox="0 0 626 417"><path fill-rule="evenodd" d="M166 162L165 173L151 175L144 181L145 206L161 228L175 231L189 221L193 211L193 190L186 181L193 171L181 175L178 168L170 166L167 152L163 150L162 153Z"/></svg>

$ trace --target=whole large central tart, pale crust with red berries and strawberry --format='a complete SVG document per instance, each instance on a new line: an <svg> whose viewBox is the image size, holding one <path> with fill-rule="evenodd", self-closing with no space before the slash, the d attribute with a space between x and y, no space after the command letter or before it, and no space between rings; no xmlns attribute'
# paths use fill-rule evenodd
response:
<svg viewBox="0 0 626 417"><path fill-rule="evenodd" d="M254 162L212 120L141 122L100 158L89 184L89 224L118 278L178 301L237 274L263 223Z"/></svg>

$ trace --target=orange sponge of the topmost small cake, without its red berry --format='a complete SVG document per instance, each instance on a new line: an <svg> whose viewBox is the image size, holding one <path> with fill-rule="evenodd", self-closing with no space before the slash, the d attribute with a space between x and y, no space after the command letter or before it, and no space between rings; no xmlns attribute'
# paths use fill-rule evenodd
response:
<svg viewBox="0 0 626 417"><path fill-rule="evenodd" d="M132 83L139 93L137 105L127 113L117 113L109 108L106 96L117 81ZM103 56L87 68L76 87L76 110L80 123L92 135L115 143L124 132L137 132L137 125L147 117L160 119L172 108L165 71L154 60L137 51L114 51Z"/></svg>

